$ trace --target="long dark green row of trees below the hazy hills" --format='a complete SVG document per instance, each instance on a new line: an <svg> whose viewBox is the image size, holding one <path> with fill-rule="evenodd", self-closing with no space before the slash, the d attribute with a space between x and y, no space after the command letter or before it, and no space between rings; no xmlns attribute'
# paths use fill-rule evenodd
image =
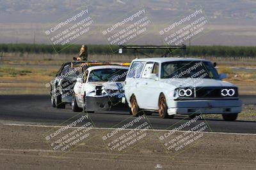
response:
<svg viewBox="0 0 256 170"><path fill-rule="evenodd" d="M17 53L78 53L81 45L31 45L31 44L0 44L0 52ZM63 49L64 48L64 49ZM88 45L90 54L111 54L118 51L118 46L109 45ZM144 52L153 55L163 54L163 50L152 49ZM181 50L173 51L173 55L180 55ZM124 53L131 54L132 50L124 50ZM256 46L188 46L188 56L216 56L216 57L255 57Z"/></svg>

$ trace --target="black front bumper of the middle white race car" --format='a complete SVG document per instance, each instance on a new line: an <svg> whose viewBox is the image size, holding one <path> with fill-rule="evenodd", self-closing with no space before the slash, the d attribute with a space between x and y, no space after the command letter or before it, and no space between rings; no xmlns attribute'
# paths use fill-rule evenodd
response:
<svg viewBox="0 0 256 170"><path fill-rule="evenodd" d="M122 98L100 96L86 96L86 111L114 111L127 108L127 104L122 103Z"/></svg>

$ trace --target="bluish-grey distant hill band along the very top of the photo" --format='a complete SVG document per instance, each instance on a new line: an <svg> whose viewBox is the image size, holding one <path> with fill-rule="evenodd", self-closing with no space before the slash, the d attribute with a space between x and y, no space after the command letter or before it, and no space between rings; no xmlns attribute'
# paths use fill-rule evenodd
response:
<svg viewBox="0 0 256 170"><path fill-rule="evenodd" d="M140 3L139 3L140 2ZM212 22L247 22L256 21L255 0L182 0L182 1L134 1L134 0L20 0L1 1L0 22L52 22L79 6L86 4L91 13L99 20L106 22L122 16L128 11L143 4L154 22L166 22L186 11L200 5ZM9 16L6 18L6 16ZM254 23L252 23L254 21Z"/></svg>

